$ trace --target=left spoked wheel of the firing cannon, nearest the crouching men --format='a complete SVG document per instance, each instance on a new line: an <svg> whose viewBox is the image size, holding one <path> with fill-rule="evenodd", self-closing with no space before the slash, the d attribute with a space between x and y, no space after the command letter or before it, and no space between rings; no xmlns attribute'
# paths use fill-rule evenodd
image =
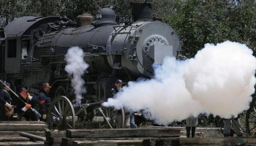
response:
<svg viewBox="0 0 256 146"><path fill-rule="evenodd" d="M52 130L75 128L75 110L67 97L57 96L50 104L48 127Z"/></svg>

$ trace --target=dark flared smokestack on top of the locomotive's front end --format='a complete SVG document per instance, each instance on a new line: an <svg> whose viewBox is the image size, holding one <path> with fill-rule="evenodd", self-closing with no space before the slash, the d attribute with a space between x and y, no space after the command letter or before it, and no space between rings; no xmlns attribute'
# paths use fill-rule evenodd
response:
<svg viewBox="0 0 256 146"><path fill-rule="evenodd" d="M132 16L134 21L138 20L153 20L152 18L152 6L150 3L130 3L132 6Z"/></svg>

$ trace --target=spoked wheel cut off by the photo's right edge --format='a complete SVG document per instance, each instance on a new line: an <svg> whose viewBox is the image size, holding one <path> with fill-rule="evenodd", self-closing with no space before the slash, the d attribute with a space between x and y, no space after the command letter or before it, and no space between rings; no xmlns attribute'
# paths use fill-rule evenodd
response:
<svg viewBox="0 0 256 146"><path fill-rule="evenodd" d="M252 95L249 110L246 111L246 133L256 135L256 95Z"/></svg>

